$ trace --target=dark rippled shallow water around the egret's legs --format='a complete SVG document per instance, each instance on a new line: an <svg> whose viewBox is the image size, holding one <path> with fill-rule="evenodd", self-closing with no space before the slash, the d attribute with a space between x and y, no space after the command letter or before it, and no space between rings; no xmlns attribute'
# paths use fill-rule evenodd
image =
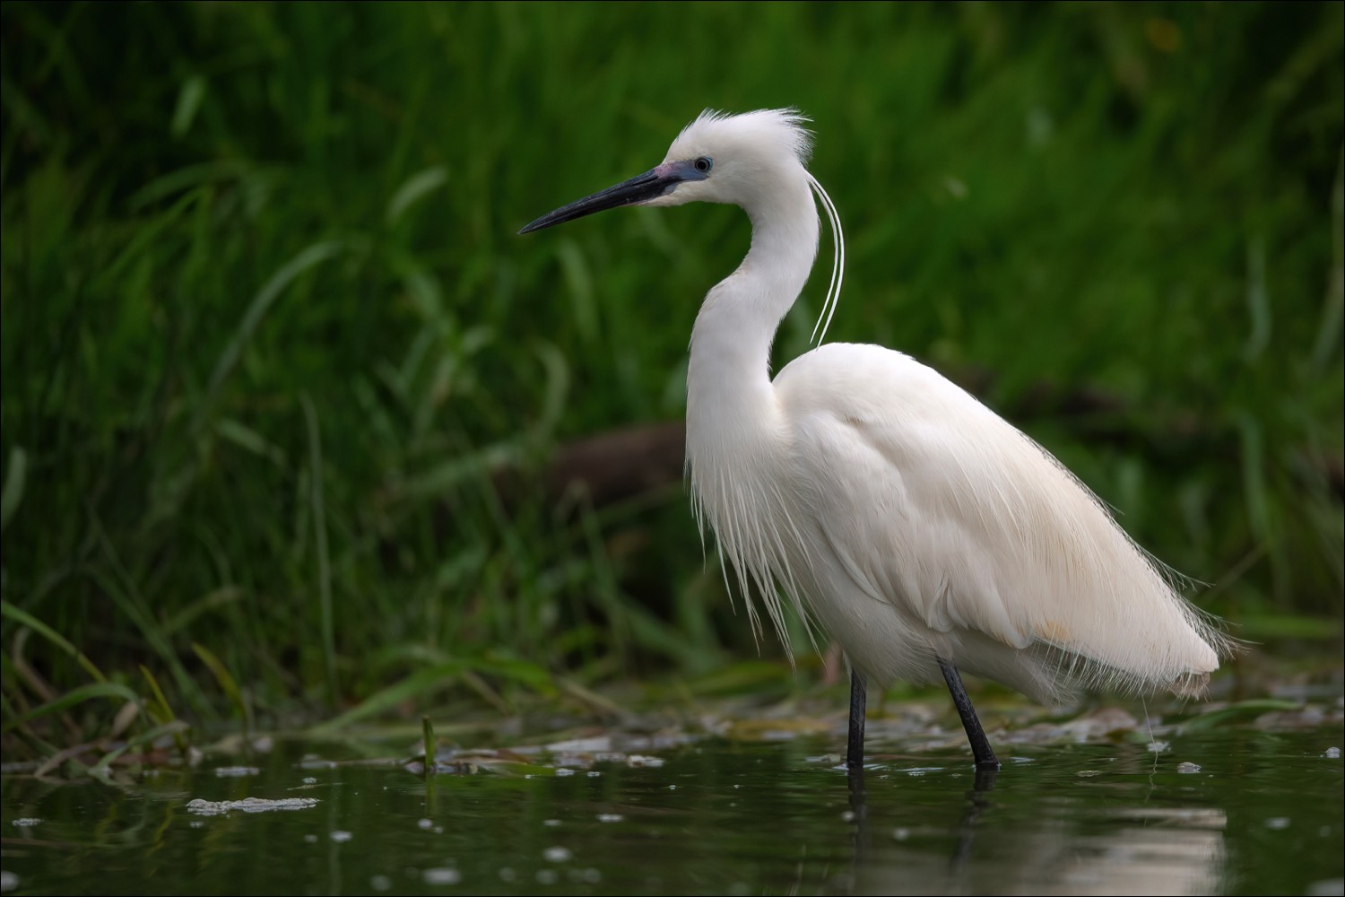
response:
<svg viewBox="0 0 1345 897"><path fill-rule="evenodd" d="M979 783L960 753L877 754L858 792L820 737L432 787L280 742L117 787L5 776L0 866L30 894L1338 894L1342 746L1338 722L1018 745ZM247 797L315 800L200 812Z"/></svg>

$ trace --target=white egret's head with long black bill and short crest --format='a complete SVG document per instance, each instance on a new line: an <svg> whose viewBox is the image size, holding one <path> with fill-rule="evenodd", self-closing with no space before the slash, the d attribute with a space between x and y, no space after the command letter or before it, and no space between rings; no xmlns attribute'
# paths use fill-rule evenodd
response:
<svg viewBox="0 0 1345 897"><path fill-rule="evenodd" d="M812 148L807 120L794 109L740 116L705 110L682 129L654 169L542 215L526 234L620 206L681 206L690 202L748 206L760 191L795 173Z"/></svg>

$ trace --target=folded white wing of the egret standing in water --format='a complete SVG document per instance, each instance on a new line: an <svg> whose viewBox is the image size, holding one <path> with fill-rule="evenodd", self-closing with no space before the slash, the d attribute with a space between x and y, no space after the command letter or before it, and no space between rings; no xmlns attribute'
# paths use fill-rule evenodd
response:
<svg viewBox="0 0 1345 897"><path fill-rule="evenodd" d="M796 515L811 524L804 554L827 558L818 590L884 601L894 635L923 636L928 652L976 646L1001 676L1007 658L1067 687L1171 686L1219 666L1217 635L1096 496L937 373L830 344L776 390Z"/></svg>

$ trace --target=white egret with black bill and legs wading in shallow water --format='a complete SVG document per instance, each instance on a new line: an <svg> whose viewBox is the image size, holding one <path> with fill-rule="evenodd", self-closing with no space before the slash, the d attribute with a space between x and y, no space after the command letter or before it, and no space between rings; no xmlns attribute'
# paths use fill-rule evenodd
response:
<svg viewBox="0 0 1345 897"><path fill-rule="evenodd" d="M937 373L888 348L819 344L772 381L771 342L835 235L820 343L845 239L804 167L798 112L705 112L663 163L519 233L619 206L741 206L752 246L691 331L686 457L755 629L749 584L784 636L781 593L837 639L851 668L847 763L862 764L866 676L939 675L978 768L995 768L959 668L1042 702L1079 687L1198 694L1231 641L1103 504L1028 436Z"/></svg>

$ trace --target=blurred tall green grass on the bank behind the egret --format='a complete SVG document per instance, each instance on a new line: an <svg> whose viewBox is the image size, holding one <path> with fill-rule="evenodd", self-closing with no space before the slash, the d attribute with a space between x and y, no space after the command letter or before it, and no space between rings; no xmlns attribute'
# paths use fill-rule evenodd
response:
<svg viewBox="0 0 1345 897"><path fill-rule="evenodd" d="M538 487L555 445L682 414L745 221L514 234L706 106L815 118L850 250L830 339L976 383L1241 635L1338 637L1340 3L0 15L3 710L30 744L89 664L163 724L755 658L681 494ZM110 725L95 691L59 711Z"/></svg>

